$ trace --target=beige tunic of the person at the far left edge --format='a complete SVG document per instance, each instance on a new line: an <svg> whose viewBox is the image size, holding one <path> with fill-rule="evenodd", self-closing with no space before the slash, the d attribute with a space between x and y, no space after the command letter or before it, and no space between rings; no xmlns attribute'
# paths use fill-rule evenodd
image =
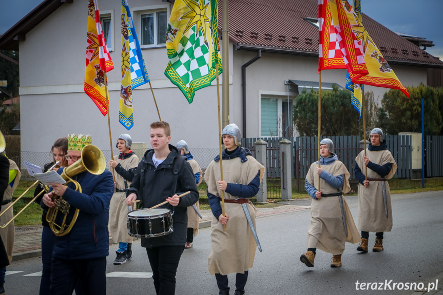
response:
<svg viewBox="0 0 443 295"><path fill-rule="evenodd" d="M17 170L17 175L14 179L14 184L12 187L8 184L8 187L5 190L5 194L3 195L3 201L11 200L12 194L14 190L17 188L18 182L22 177L22 173L20 173L20 169L18 169L17 164L14 161L9 160L9 170ZM2 210L0 213L5 211L11 203L8 203L5 206L2 206ZM12 219L14 212L12 211L12 207L0 218L0 224L4 225L8 221ZM2 237L3 244L5 245L6 253L8 254L9 263L12 261L12 253L14 251L14 240L15 240L15 229L14 222L11 222L6 228L0 228L0 236Z"/></svg>

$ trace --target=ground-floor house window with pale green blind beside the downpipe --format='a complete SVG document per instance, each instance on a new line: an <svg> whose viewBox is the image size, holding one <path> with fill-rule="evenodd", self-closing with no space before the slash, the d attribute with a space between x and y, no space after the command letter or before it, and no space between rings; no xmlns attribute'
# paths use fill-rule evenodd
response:
<svg viewBox="0 0 443 295"><path fill-rule="evenodd" d="M292 99L288 101L284 97L262 97L260 136L292 136L292 105Z"/></svg>

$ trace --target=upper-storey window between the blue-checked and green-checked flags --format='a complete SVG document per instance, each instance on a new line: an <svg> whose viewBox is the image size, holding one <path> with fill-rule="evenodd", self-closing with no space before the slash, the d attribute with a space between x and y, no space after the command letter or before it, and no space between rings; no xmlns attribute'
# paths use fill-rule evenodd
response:
<svg viewBox="0 0 443 295"><path fill-rule="evenodd" d="M166 10L141 13L141 45L143 47L165 45L167 22Z"/></svg>

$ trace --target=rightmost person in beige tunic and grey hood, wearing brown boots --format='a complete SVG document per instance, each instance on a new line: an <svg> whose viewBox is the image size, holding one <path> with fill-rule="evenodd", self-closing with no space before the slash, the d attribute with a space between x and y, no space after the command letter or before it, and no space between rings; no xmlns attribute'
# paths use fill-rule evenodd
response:
<svg viewBox="0 0 443 295"><path fill-rule="evenodd" d="M361 230L361 244L357 250L368 252L369 232L375 232L373 252L383 250L383 232L392 229L391 190L388 179L394 176L397 164L388 150L383 131L372 129L371 143L366 150L355 158L354 175L358 185L358 227ZM364 167L368 167L368 175L364 175ZM361 168L360 168L361 167ZM366 180L368 176L368 180Z"/></svg>

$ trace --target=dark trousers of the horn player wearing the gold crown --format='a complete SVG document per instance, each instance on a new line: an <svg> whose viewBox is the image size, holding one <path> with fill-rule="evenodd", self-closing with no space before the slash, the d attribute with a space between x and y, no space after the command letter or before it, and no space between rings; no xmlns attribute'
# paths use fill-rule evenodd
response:
<svg viewBox="0 0 443 295"><path fill-rule="evenodd" d="M51 295L72 294L79 280L84 294L106 295L106 257L78 260L52 258Z"/></svg>

